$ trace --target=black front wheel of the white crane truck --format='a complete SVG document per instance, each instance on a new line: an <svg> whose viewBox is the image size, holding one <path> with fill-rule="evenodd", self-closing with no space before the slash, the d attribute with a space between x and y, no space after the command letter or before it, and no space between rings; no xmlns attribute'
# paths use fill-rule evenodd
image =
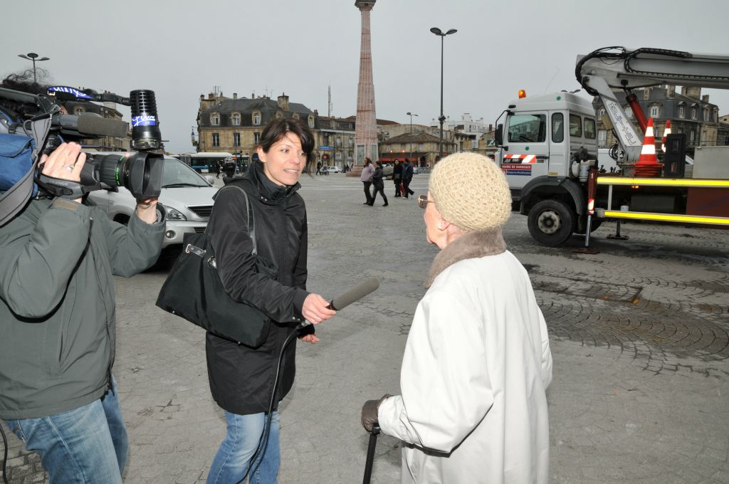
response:
<svg viewBox="0 0 729 484"><path fill-rule="evenodd" d="M576 216L560 200L542 200L529 211L529 233L545 246L564 243L574 231Z"/></svg>

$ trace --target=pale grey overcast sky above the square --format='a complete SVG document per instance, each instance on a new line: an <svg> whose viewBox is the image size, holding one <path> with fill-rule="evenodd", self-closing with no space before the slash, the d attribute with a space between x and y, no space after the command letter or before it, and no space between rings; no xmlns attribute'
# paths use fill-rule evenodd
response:
<svg viewBox="0 0 729 484"><path fill-rule="evenodd" d="M53 82L128 95L151 89L165 148L194 151L200 94L285 92L327 114L356 114L360 14L354 0L4 1L0 75L31 66ZM519 89L580 87L577 54L660 47L729 54L729 1L377 0L371 13L377 117L423 124L440 112L494 122ZM729 114L729 91L704 90ZM128 110L125 120L129 121Z"/></svg>

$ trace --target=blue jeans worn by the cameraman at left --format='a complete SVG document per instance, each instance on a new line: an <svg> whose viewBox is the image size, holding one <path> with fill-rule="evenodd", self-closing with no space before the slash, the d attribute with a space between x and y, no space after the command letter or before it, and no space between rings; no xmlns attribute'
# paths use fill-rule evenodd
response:
<svg viewBox="0 0 729 484"><path fill-rule="evenodd" d="M51 484L121 484L129 441L112 391L83 407L41 418L5 421L41 456Z"/></svg>

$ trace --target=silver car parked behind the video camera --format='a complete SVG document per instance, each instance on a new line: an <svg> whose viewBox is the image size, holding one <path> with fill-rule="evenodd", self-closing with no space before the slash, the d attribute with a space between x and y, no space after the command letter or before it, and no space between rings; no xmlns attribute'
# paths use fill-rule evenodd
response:
<svg viewBox="0 0 729 484"><path fill-rule="evenodd" d="M105 155L107 153L104 153ZM123 155L123 153L114 153ZM212 177L203 178L195 170L176 158L165 155L162 192L159 203L167 211L167 230L163 249L176 244L182 245L185 233L201 233L208 225L213 209ZM136 209L136 200L124 187L90 192L92 203L99 206L115 222L125 224Z"/></svg>

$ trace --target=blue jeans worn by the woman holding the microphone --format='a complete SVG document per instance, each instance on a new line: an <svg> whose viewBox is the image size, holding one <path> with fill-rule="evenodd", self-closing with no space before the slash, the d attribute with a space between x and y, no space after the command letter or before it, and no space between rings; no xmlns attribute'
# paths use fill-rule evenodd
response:
<svg viewBox="0 0 729 484"><path fill-rule="evenodd" d="M233 484L243 478L258 447L266 418L265 413L238 415L226 410L227 431L210 466L208 484ZM253 466L255 470L248 476L249 483L276 484L278 463L281 461L278 449L279 428L278 412L273 412L268 444L262 450L262 455L256 458Z"/></svg>

